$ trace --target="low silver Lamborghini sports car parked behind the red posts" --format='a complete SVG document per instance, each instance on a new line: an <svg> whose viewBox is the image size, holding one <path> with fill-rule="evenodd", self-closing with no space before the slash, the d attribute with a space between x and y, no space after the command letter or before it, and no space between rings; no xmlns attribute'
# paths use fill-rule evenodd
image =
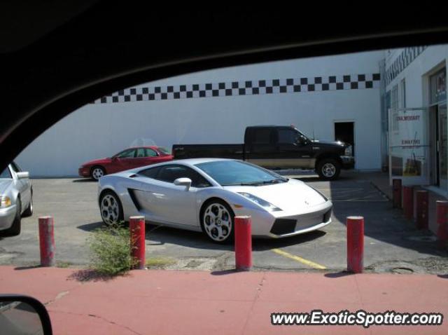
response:
<svg viewBox="0 0 448 335"><path fill-rule="evenodd" d="M252 217L252 235L307 233L331 222L332 203L304 182L222 158L175 160L99 179L106 224L144 215L166 226L203 231L214 242L232 239L236 215Z"/></svg>

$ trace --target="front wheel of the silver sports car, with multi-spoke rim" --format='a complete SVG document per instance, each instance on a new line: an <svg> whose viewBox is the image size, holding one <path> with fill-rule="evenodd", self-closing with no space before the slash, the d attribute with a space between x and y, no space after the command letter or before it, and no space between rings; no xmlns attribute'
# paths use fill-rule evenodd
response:
<svg viewBox="0 0 448 335"><path fill-rule="evenodd" d="M216 243L229 242L233 238L235 214L223 200L211 200L201 211L201 228Z"/></svg>

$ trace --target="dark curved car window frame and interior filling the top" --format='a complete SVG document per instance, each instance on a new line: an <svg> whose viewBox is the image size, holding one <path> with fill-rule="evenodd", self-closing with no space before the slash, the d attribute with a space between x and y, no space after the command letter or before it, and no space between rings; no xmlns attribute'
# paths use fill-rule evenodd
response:
<svg viewBox="0 0 448 335"><path fill-rule="evenodd" d="M319 6L216 11L95 0L1 4L6 106L0 143L7 150L0 170L71 111L144 81L237 64L447 43L447 24L433 19L433 6L388 4L370 6L368 13L360 4L332 4L326 11Z"/></svg>

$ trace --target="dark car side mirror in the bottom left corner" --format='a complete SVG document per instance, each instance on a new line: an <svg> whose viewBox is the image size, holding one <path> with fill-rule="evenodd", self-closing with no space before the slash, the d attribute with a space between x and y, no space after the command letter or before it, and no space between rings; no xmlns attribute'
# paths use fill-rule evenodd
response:
<svg viewBox="0 0 448 335"><path fill-rule="evenodd" d="M52 335L50 317L45 306L31 296L0 295L1 334Z"/></svg>

